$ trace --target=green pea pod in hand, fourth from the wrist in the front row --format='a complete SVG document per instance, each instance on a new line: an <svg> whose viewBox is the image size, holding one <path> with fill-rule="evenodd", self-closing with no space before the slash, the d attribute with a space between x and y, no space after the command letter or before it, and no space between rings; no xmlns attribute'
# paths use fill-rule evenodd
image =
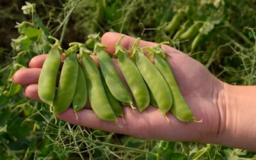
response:
<svg viewBox="0 0 256 160"><path fill-rule="evenodd" d="M95 52L97 52L97 58L102 70L102 75L106 81L109 91L115 97L115 99L122 102L125 105L132 105L132 98L124 83L122 83L118 73L116 72L113 61L111 60L108 52L104 51L104 46L100 43L95 45Z"/></svg>

